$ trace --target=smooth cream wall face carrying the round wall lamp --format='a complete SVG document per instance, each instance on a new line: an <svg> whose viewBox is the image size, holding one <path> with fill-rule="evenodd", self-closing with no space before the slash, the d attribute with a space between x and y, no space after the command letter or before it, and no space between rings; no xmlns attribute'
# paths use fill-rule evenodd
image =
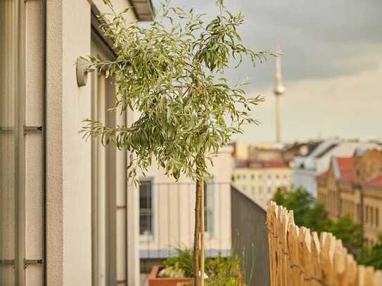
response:
<svg viewBox="0 0 382 286"><path fill-rule="evenodd" d="M77 86L75 68L91 52L90 8L63 1L63 285L91 285L91 145L78 133L91 97L89 85Z"/></svg>

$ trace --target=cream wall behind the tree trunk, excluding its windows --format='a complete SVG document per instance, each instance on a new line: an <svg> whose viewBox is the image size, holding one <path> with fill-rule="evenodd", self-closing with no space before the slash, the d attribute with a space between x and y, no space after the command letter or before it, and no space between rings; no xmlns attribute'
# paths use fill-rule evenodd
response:
<svg viewBox="0 0 382 286"><path fill-rule="evenodd" d="M206 236L206 253L215 255L231 249L231 175L233 169L232 148L222 148L210 166L213 197L212 235ZM142 258L167 256L176 247L193 247L193 228L195 223L196 185L186 176L179 181L164 174L153 164L148 169L147 178L153 179L154 193L154 232L153 240L141 239L139 244ZM139 213L139 209L137 209Z"/></svg>

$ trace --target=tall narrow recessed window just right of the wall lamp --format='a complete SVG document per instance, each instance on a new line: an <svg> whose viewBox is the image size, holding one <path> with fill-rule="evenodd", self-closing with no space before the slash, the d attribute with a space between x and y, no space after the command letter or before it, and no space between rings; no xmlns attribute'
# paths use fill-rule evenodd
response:
<svg viewBox="0 0 382 286"><path fill-rule="evenodd" d="M113 53L95 32L91 33L91 53L102 60L113 60ZM91 73L91 118L115 125L115 88L105 74ZM114 285L116 278L116 155L115 148L91 138L91 243L94 286Z"/></svg>

